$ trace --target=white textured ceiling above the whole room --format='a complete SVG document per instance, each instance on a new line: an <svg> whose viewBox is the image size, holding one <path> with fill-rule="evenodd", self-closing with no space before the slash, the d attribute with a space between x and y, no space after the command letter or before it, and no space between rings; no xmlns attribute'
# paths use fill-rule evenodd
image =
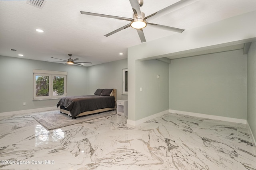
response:
<svg viewBox="0 0 256 170"><path fill-rule="evenodd" d="M179 0L144 0L140 8L146 16ZM79 58L91 66L127 58L127 48L141 44L136 29L131 27L109 37L129 21L81 15L80 11L132 18L129 0L48 0L42 9L26 0L0 0L0 55L40 61L51 57ZM256 0L190 0L152 23L192 29L256 10ZM38 33L36 28L44 30ZM185 30L185 31L186 31ZM175 32L148 25L143 29L146 41L169 36ZM17 51L11 51L16 49ZM124 55L120 56L119 53Z"/></svg>

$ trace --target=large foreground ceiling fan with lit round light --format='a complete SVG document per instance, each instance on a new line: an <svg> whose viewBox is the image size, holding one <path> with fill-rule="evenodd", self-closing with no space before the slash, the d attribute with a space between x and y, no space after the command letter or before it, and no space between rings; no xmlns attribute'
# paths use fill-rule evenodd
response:
<svg viewBox="0 0 256 170"><path fill-rule="evenodd" d="M116 29L116 30L112 31L111 33L108 33L104 36L108 37L108 36L110 36L114 33L117 33L118 31L121 31L121 30L126 29L128 27L132 27L134 29L137 29L140 40L143 43L143 42L146 42L146 39L145 39L142 28L146 27L147 24L156 26L156 27L161 28L161 29L166 29L166 30L169 30L169 31L182 33L185 29L169 27L169 26L159 25L159 24L155 24L155 23L149 23L147 21L147 19L148 18L153 19L156 16L159 17L160 15L163 16L165 14L168 14L168 13L170 13L170 10L182 8L189 1L191 1L191 0L180 0L180 1L176 2L175 4L172 4L172 5L170 5L166 8L158 11L158 12L155 12L154 14L151 14L151 15L145 17L145 14L140 11L140 7L144 3L143 0L130 0L130 4L132 6L132 10L133 10L133 13L134 13L132 19L131 18L125 18L125 17L119 17L119 16L110 16L110 15L104 15L104 14L97 14L97 13L92 13L92 12L84 12L84 11L80 11L80 12L81 12L81 14L85 14L85 15L100 16L100 17L114 18L114 19L118 19L118 20L130 21L129 24L124 25L123 27L120 27L120 28L118 28L118 29ZM195 1L195 0L193 0L193 1Z"/></svg>

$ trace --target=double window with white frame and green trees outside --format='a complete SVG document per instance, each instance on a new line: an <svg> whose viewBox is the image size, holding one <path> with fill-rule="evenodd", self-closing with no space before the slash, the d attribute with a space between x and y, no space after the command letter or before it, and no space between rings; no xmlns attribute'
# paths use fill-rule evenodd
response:
<svg viewBox="0 0 256 170"><path fill-rule="evenodd" d="M33 100L62 98L67 94L67 72L33 69Z"/></svg>

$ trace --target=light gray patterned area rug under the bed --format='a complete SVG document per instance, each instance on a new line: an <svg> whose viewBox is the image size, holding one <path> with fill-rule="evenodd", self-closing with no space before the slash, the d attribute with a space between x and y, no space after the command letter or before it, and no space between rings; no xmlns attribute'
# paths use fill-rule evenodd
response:
<svg viewBox="0 0 256 170"><path fill-rule="evenodd" d="M74 125L77 123L83 123L86 121L90 121L93 119L98 119L101 117L106 117L110 115L116 114L116 110L105 111L102 113L94 113L91 115L85 115L76 117L76 119L72 119L72 117L68 116L65 113L60 113L59 110L54 111L44 111L30 114L38 123L40 123L43 127L48 130L58 129L61 127L66 127L70 125Z"/></svg>

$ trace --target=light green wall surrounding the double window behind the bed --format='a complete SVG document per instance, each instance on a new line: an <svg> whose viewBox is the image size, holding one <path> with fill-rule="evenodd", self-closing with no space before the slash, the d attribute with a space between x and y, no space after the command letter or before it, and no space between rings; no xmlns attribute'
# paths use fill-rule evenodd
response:
<svg viewBox="0 0 256 170"><path fill-rule="evenodd" d="M68 96L87 94L86 67L0 56L0 113L56 106L58 99L33 101L33 69L68 72Z"/></svg>

